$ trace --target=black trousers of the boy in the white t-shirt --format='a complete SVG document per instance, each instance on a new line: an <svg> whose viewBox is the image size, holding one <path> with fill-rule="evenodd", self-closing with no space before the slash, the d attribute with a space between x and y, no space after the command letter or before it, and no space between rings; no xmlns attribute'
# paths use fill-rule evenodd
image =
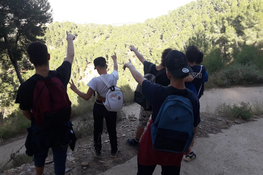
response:
<svg viewBox="0 0 263 175"><path fill-rule="evenodd" d="M102 104L102 101L96 100L96 102L93 106L94 148L96 152L101 153L101 134L103 131L103 118L105 118L107 131L110 138L111 152L115 153L118 149L116 132L117 112L108 111Z"/></svg>

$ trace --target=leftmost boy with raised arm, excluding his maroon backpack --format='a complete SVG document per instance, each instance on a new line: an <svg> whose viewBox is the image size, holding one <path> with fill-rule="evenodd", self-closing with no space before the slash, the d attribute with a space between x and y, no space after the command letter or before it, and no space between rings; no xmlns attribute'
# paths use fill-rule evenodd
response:
<svg viewBox="0 0 263 175"><path fill-rule="evenodd" d="M75 36L67 33L67 56L56 71L49 70L50 54L47 46L39 41L32 42L28 48L29 61L34 64L36 73L21 83L15 103L19 103L19 108L28 120L31 120L31 127L28 128L28 135L25 142L26 154L34 155L34 164L37 175L42 175L44 171L45 159L48 156L49 148L53 151L54 172L56 175L65 174L67 150L70 145L75 147L75 141L71 137L72 123L69 121L57 128L44 129L36 124L36 119L32 115L34 88L38 80L48 75L59 78L65 88L67 88L71 75L71 66L74 58L73 40ZM74 134L75 135L75 134ZM74 142L72 145L71 143ZM72 147L72 149L74 149Z"/></svg>

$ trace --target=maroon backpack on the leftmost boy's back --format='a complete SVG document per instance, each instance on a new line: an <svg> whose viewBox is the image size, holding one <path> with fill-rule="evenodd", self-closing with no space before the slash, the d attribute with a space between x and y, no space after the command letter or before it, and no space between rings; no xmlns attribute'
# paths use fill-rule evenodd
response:
<svg viewBox="0 0 263 175"><path fill-rule="evenodd" d="M56 127L70 120L71 101L62 81L51 75L37 81L33 117L40 127Z"/></svg>

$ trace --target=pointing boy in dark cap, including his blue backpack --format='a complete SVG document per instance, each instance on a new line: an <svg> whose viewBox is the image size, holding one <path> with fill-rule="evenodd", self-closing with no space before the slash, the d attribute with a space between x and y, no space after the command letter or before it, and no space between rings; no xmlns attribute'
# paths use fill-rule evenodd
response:
<svg viewBox="0 0 263 175"><path fill-rule="evenodd" d="M153 106L152 120L139 145L137 175L153 174L156 164L161 165L162 175L180 174L183 155L190 152L193 127L200 122L198 97L184 86L184 78L192 72L186 56L182 52L172 50L165 58L165 65L167 77L171 81L171 86L168 87L146 80L130 60L123 67L124 70L126 67L129 68L134 79L142 86L143 95ZM170 97L174 101L172 106L169 106ZM178 101L186 110L176 111L178 107L174 108L175 101ZM183 115L190 122L181 123L184 120ZM170 126L160 127L166 125Z"/></svg>

